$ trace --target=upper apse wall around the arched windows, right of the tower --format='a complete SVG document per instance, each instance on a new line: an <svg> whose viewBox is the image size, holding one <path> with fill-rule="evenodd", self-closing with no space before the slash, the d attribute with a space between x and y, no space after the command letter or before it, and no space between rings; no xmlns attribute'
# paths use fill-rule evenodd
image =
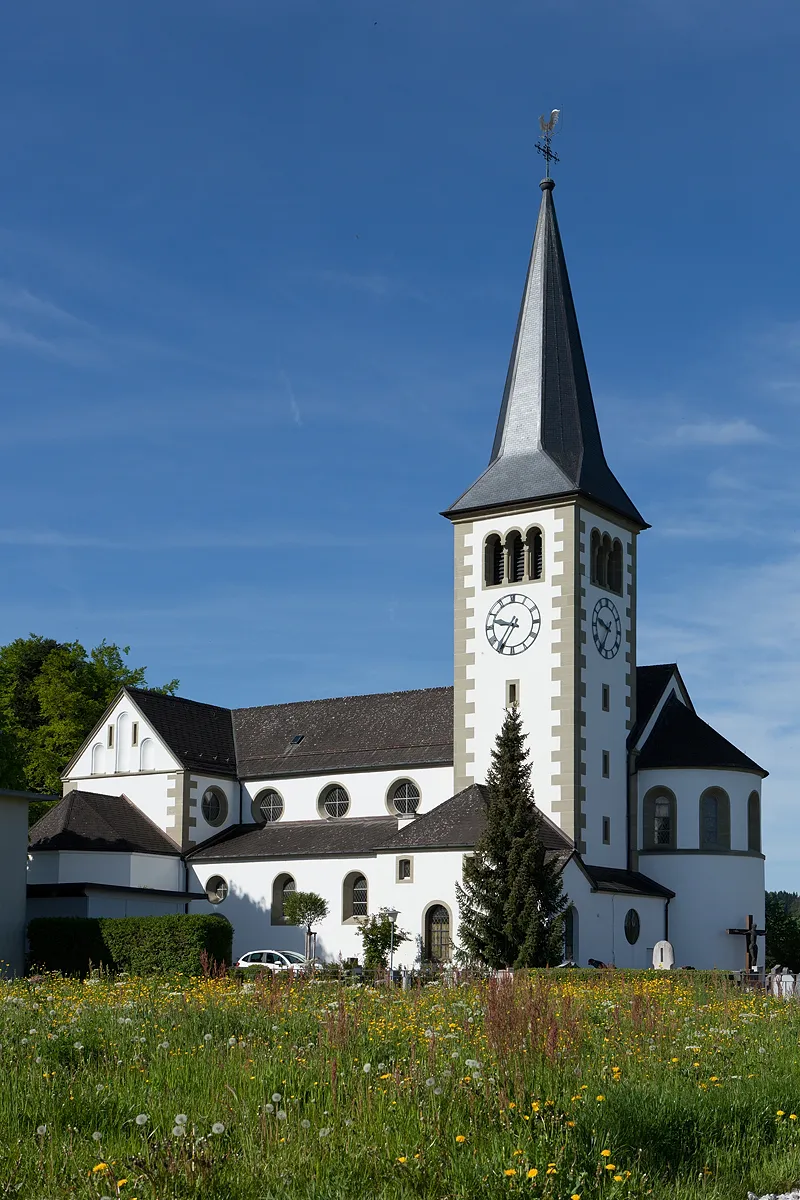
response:
<svg viewBox="0 0 800 1200"><path fill-rule="evenodd" d="M697 850L700 842L700 796L709 787L722 787L730 797L730 848L747 850L747 798L762 794L760 775L746 770L640 770L638 773L639 845L644 845L643 800L651 787L668 787L675 794L678 848ZM640 856L640 868L650 874L650 853ZM672 887L672 884L668 884Z"/></svg>

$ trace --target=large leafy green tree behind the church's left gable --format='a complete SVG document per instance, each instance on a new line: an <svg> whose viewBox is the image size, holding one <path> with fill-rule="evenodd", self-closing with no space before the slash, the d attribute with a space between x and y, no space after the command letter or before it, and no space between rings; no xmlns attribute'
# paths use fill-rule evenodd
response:
<svg viewBox="0 0 800 1200"><path fill-rule="evenodd" d="M146 688L130 647L18 637L0 647L0 786L59 794L61 775L120 688ZM174 692L173 679L156 691ZM31 817L42 815L31 805Z"/></svg>

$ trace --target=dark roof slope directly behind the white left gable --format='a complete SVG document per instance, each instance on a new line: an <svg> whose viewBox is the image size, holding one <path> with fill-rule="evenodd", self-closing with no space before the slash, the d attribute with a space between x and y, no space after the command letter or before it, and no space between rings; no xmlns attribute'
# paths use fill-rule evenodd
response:
<svg viewBox="0 0 800 1200"><path fill-rule="evenodd" d="M127 691L185 767L209 775L236 774L229 708L201 704L182 696L163 696L143 688L128 688Z"/></svg>

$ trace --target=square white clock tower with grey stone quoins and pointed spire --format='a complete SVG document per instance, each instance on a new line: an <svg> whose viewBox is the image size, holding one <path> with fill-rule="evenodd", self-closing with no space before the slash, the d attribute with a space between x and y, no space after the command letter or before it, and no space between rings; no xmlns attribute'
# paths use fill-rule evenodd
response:
<svg viewBox="0 0 800 1200"><path fill-rule="evenodd" d="M648 528L603 454L561 247L541 184L489 466L455 528L455 786L482 782L505 709L536 803L588 862L627 866L636 713L636 540Z"/></svg>

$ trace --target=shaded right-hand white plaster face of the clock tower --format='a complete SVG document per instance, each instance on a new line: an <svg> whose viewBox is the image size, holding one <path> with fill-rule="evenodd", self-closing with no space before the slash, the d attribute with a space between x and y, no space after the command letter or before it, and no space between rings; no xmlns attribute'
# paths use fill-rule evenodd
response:
<svg viewBox="0 0 800 1200"><path fill-rule="evenodd" d="M631 580L631 554L634 551L636 535L621 524L597 516L590 509L581 506L581 581L585 595L581 617L581 644L585 666L581 671L584 689L583 713L585 725L583 736L585 750L583 764L585 774L584 815L587 826L583 832L585 842L584 858L599 866L627 865L627 732L631 716L631 688L628 676L636 671L636 656L628 660L627 634L631 630L631 599L627 595ZM591 530L608 534L622 544L622 595L599 588L590 583ZM636 588L636 580L633 580ZM604 659L595 646L591 619L595 605L606 599L616 608L622 626L620 648L613 659ZM636 652L634 652L636 654ZM609 712L602 708L602 685L609 688ZM609 776L602 774L602 752L609 752ZM602 839L602 818L610 818L610 844Z"/></svg>

